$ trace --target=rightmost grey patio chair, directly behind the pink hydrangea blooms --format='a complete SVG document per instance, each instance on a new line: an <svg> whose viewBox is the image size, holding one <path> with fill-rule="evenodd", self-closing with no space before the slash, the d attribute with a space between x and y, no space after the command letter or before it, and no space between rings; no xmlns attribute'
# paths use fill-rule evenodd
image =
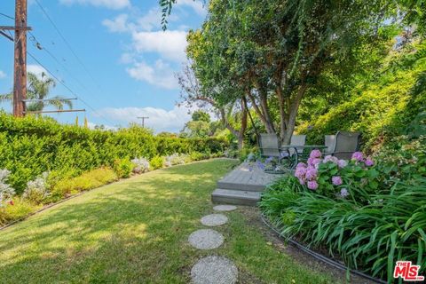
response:
<svg viewBox="0 0 426 284"><path fill-rule="evenodd" d="M326 154L331 154L339 159L349 160L354 152L359 151L361 137L361 133L359 132L337 131L334 141L332 135L327 136L325 145L329 146L331 151L327 151Z"/></svg>

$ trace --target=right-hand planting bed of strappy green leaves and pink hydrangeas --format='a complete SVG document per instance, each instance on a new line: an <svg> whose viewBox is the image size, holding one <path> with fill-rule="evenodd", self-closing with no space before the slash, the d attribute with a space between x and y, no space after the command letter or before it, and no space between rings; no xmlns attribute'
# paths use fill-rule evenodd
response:
<svg viewBox="0 0 426 284"><path fill-rule="evenodd" d="M420 265L423 275L425 145L419 138L398 148L398 141L375 161L359 152L351 161L322 159L313 150L307 163L297 165L295 177L283 177L264 192L264 215L283 236L352 269L392 282L395 263L405 260Z"/></svg>

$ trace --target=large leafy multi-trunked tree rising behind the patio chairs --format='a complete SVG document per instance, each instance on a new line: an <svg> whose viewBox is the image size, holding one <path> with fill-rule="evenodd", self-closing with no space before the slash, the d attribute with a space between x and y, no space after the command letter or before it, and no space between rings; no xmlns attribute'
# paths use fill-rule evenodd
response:
<svg viewBox="0 0 426 284"><path fill-rule="evenodd" d="M224 105L247 99L289 143L304 94L321 76L353 73L361 51L382 39L388 11L381 0L212 0L187 54L204 94Z"/></svg>

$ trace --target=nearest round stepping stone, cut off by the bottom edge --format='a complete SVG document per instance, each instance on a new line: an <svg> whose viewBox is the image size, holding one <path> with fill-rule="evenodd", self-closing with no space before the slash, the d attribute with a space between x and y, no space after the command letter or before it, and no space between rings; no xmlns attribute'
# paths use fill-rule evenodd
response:
<svg viewBox="0 0 426 284"><path fill-rule="evenodd" d="M201 258L191 270L194 284L233 284L238 280L238 269L223 256Z"/></svg>

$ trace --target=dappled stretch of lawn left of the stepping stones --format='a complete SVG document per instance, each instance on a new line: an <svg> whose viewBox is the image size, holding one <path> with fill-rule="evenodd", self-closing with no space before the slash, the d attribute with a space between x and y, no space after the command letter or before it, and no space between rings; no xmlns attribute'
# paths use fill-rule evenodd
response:
<svg viewBox="0 0 426 284"><path fill-rule="evenodd" d="M187 235L232 162L107 185L0 233L1 282L185 282Z"/></svg>

